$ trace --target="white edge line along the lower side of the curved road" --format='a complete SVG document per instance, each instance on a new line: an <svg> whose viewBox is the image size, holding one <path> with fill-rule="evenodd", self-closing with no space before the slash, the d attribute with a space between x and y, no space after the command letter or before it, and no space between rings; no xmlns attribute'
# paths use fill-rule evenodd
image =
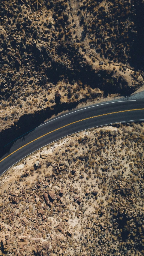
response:
<svg viewBox="0 0 144 256"><path fill-rule="evenodd" d="M143 120L144 120L144 119L129 120L129 121L121 121L121 122L114 122L114 123L110 123L110 124L106 124L106 125L112 125L112 124L115 124L115 123L117 124L117 123L127 123L127 122L138 122L138 121L143 121ZM97 128L97 127L101 127L101 126L105 126L105 125L98 125L98 126L94 126L94 127L91 127L91 128L87 128L87 129L81 130L81 131L86 131L86 130L93 129L93 128ZM81 132L81 131L77 131L77 132L74 132L74 133L78 133L78 132ZM68 135L66 135L66 136L64 136L64 137L61 137L61 138L57 139L57 140L61 140L61 139L65 138L65 137L67 137L67 136L70 136L70 135L74 134L74 133L70 133L70 134L68 134ZM53 143L53 142L55 142L55 141L57 141L57 140L54 140L54 141L52 141L52 142L46 144L45 146L42 146L41 148L44 148L44 147L46 147L47 145L49 145L49 144L51 144L51 143ZM41 149L41 148L39 148L39 149ZM39 149L36 149L36 150L33 151L32 153L30 153L30 154L24 156L24 157L21 158L19 161L17 161L15 164L17 164L17 163L20 162L22 159L24 159L24 158L26 158L27 156L33 154L34 152L36 152L36 151L39 150ZM15 164L13 164L13 165L15 165ZM9 168L7 168L7 170L10 169L13 165L11 165ZM7 170L5 170L3 173L5 173ZM0 176L1 176L3 173L1 173Z"/></svg>

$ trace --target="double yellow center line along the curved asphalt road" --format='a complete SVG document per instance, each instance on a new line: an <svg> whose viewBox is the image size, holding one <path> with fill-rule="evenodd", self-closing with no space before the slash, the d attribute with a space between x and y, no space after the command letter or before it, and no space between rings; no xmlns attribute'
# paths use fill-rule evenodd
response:
<svg viewBox="0 0 144 256"><path fill-rule="evenodd" d="M102 114L102 115L98 115L98 116L87 117L87 118L84 118L84 119L81 119L81 120L72 122L72 123L70 123L70 124L64 125L64 126L62 126L62 127L60 127L60 128L57 128L57 129L55 129L55 130L53 130L53 131L50 131L50 132L48 132L48 133L46 133L46 134L44 134L44 135L42 135L42 136L36 138L35 140L41 139L42 137L44 137L44 136L46 136L46 135L48 135L48 134L50 134L50 133L52 133L52 132L54 132L54 131L58 131L58 130L60 130L60 129L62 129L62 128L68 126L68 125L72 125L72 124L75 124L75 123L78 123L78 122L81 122L81 121L84 121L84 120L88 120L88 119L95 118L95 117L99 117L99 116L107 116L107 115L111 115L111 114L123 113L123 112L128 112L128 111L135 111L135 110L144 110L144 108L130 109L130 110L122 110L122 111L117 111L117 112ZM27 143L26 145L20 147L19 149L22 149L23 147L25 147L25 146L29 145L30 143L34 142L35 140L30 141L29 143ZM14 154L14 153L17 152L19 149L16 149L16 150L13 151L10 155ZM3 159L0 161L0 163L1 163L4 159L6 159L7 157L9 157L10 155L7 155L5 158L3 158Z"/></svg>

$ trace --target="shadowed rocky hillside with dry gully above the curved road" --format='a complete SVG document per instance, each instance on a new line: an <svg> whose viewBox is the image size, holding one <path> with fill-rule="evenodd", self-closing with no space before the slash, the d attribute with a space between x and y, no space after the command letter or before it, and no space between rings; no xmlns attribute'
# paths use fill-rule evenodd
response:
<svg viewBox="0 0 144 256"><path fill-rule="evenodd" d="M1 0L0 131L143 86L143 13L141 0Z"/></svg>

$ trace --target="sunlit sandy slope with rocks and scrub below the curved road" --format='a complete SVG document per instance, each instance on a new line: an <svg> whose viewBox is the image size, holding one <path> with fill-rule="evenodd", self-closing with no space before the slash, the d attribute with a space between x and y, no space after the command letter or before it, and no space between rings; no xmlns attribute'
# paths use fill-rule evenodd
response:
<svg viewBox="0 0 144 256"><path fill-rule="evenodd" d="M0 255L144 254L144 123L48 145L0 178Z"/></svg>

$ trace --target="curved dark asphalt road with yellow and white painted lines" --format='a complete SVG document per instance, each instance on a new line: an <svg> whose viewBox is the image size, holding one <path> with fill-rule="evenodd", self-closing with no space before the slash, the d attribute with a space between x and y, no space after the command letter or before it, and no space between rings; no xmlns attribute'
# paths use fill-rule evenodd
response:
<svg viewBox="0 0 144 256"><path fill-rule="evenodd" d="M0 175L41 147L70 134L117 122L142 120L144 99L85 107L50 119L11 143L10 150L0 158Z"/></svg>

